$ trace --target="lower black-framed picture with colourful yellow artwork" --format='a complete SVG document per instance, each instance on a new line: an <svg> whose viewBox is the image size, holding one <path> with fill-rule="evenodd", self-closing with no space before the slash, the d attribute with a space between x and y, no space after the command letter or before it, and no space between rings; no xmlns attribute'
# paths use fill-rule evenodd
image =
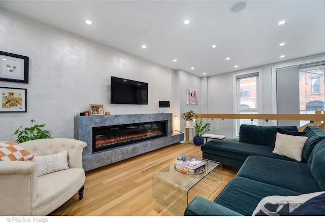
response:
<svg viewBox="0 0 325 223"><path fill-rule="evenodd" d="M27 89L0 87L0 112L27 112Z"/></svg>

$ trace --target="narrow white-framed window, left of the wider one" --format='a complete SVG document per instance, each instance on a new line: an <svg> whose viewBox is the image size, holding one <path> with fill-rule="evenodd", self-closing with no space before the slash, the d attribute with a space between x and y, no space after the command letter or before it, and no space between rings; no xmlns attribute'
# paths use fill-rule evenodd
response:
<svg viewBox="0 0 325 223"><path fill-rule="evenodd" d="M259 113L259 73L255 71L242 75L235 75L236 82L236 108L237 114L258 114ZM235 121L234 137L239 136L239 127L242 124L258 125L258 120L237 119Z"/></svg>

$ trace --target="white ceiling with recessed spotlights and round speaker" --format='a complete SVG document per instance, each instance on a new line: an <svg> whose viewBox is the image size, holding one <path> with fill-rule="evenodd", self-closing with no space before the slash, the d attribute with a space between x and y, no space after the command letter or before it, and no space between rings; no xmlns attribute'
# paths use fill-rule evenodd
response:
<svg viewBox="0 0 325 223"><path fill-rule="evenodd" d="M325 1L241 1L246 8L230 12L237 2L0 1L0 7L199 77L325 52ZM280 20L286 23L278 26Z"/></svg>

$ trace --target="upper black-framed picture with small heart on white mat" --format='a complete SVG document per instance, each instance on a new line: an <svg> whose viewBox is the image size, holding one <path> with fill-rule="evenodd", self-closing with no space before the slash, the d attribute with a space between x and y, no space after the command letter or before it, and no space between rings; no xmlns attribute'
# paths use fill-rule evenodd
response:
<svg viewBox="0 0 325 223"><path fill-rule="evenodd" d="M0 81L28 84L28 57L0 51Z"/></svg>

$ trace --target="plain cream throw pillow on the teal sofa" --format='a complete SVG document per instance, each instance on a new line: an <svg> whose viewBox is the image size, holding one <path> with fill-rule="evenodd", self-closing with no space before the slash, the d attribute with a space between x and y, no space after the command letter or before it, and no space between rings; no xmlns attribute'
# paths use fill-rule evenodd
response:
<svg viewBox="0 0 325 223"><path fill-rule="evenodd" d="M277 132L272 152L301 162L303 147L307 139L306 136L286 135Z"/></svg>

